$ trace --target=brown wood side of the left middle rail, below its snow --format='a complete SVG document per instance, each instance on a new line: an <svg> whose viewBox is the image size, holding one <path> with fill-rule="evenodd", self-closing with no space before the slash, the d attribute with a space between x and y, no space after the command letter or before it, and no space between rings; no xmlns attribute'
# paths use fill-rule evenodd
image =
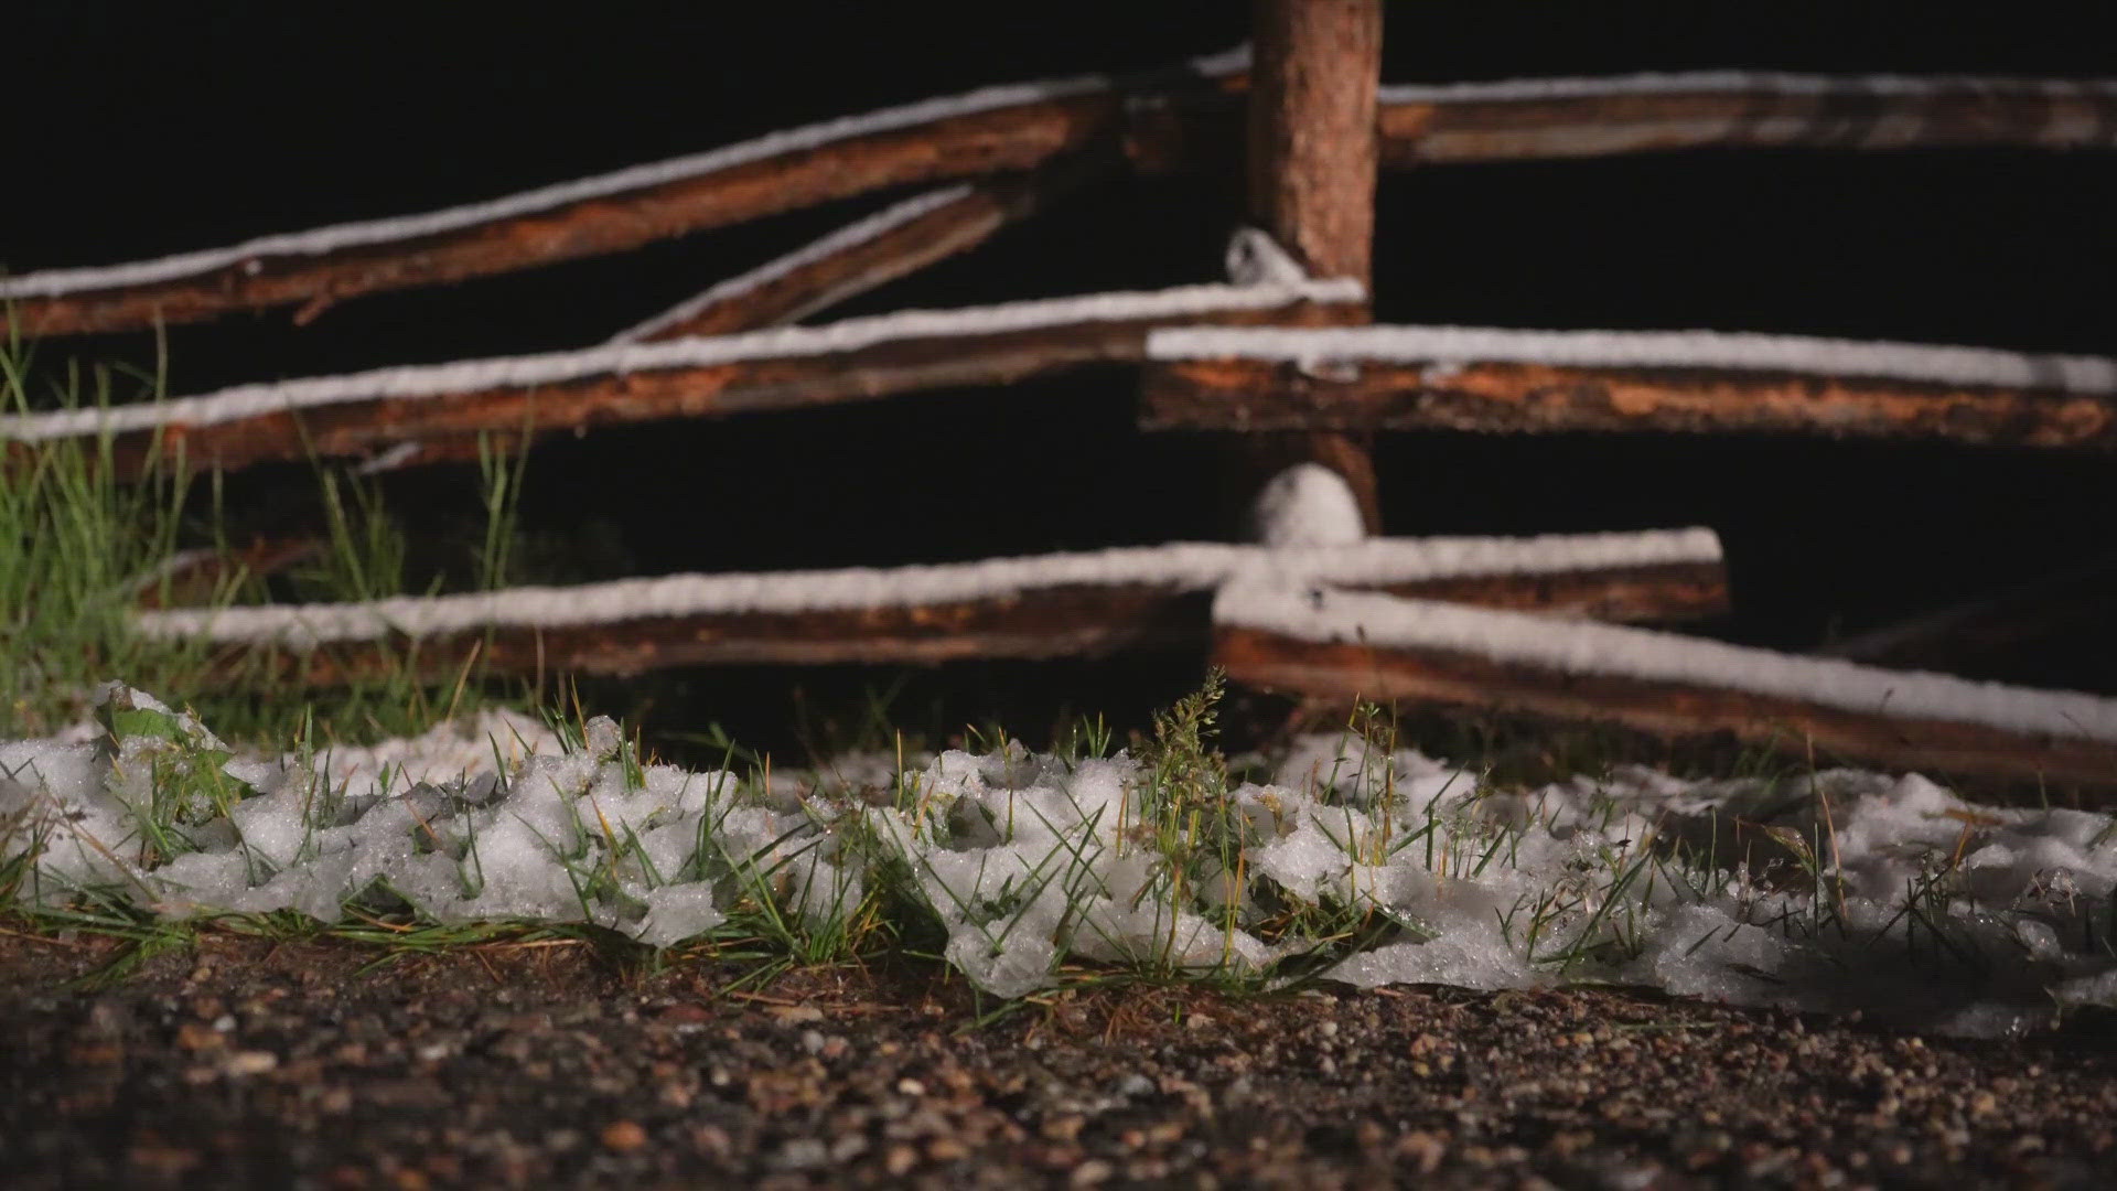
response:
<svg viewBox="0 0 2117 1191"><path fill-rule="evenodd" d="M298 411L184 424L112 439L112 464L140 475L157 456L193 470L241 468L267 460L370 458L413 443L417 460L476 458L478 437L521 439L553 430L665 417L724 417L874 401L915 390L1008 384L1097 362L1137 362L1147 333L1169 324L1257 324L1300 318L1285 312L1224 309L1164 318L1090 320L1029 331L904 337L849 352L737 360L703 367L597 373L572 381L423 396L351 398ZM23 443L0 445L23 454ZM4 454L4 451L0 451ZM406 460L396 460L406 462Z"/></svg>

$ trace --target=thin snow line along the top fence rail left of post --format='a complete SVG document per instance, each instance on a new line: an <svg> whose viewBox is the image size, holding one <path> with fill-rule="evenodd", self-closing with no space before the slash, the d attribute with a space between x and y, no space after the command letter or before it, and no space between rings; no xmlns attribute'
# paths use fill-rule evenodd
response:
<svg viewBox="0 0 2117 1191"><path fill-rule="evenodd" d="M1215 76L1241 70L1245 64L1247 64L1245 51L1230 51L1192 61L1192 70L1205 76ZM296 231L282 235L260 235L256 239L246 239L229 248L180 252L174 256L161 256L155 261L135 261L127 265L102 265L87 269L44 269L36 273L23 273L21 278L0 280L0 299L61 297L83 290L144 286L152 282L169 282L178 278L191 278L197 273L210 273L214 269L224 269L231 265L246 265L269 256L320 256L324 252L337 252L341 248L362 248L373 244L396 244L426 235L442 235L449 231L476 227L481 223L495 223L504 218L563 208L586 199L603 199L610 195L622 195L627 191L644 191L650 186L663 186L667 182L680 182L705 174L716 174L722 170L735 170L737 165L749 165L766 157L807 153L824 148L834 142L853 140L860 136L931 125L957 117L995 112L1001 108L1020 108L1052 100L1069 100L1075 95L1092 95L1109 89L1111 89L1111 78L1103 74L1084 74L1075 78L1046 78L1035 83L1010 83L1001 87L980 87L976 91L965 91L961 95L942 95L934 100L921 100L917 104L881 108L876 112L866 112L857 117L819 121L813 125L773 131L754 140L743 140L707 153L692 153L684 157L671 157L665 161L650 161L644 165L614 170L610 174L576 178L572 182L557 182L550 186L540 186L536 191L521 191L497 199L442 208L436 212L373 218L358 223L337 223L330 227L318 227L311 231Z"/></svg>

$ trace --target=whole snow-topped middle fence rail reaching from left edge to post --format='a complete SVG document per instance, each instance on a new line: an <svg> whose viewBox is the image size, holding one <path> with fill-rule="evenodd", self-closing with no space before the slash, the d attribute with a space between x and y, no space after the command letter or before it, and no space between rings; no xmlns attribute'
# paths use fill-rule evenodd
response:
<svg viewBox="0 0 2117 1191"><path fill-rule="evenodd" d="M0 417L0 443L112 434L125 473L157 454L197 468L235 468L447 439L474 447L481 432L538 434L597 422L868 401L1139 360L1147 333L1169 322L1300 318L1304 307L1361 299L1353 280L1274 280L908 309L826 326L373 369L8 415Z"/></svg>

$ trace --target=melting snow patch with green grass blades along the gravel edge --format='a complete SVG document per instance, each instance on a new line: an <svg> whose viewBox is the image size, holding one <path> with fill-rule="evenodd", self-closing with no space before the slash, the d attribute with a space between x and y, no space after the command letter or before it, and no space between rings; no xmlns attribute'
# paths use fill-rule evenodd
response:
<svg viewBox="0 0 2117 1191"><path fill-rule="evenodd" d="M1622 767L1495 790L1418 752L1306 737L1224 814L1171 820L1122 752L951 750L908 759L902 784L893 759L857 757L764 788L644 765L601 718L578 742L489 714L364 750L235 757L112 685L99 725L0 744L0 867L34 852L30 903L108 890L165 916L328 922L381 899L442 922L593 920L667 947L745 896L828 922L908 873L948 960L1001 996L1103 960L1321 966L1353 985L1611 981L1988 1036L2117 1002L2111 816L1973 805L1916 774ZM1166 822L1190 835L1156 846ZM1349 924L1368 941L1334 952Z"/></svg>

